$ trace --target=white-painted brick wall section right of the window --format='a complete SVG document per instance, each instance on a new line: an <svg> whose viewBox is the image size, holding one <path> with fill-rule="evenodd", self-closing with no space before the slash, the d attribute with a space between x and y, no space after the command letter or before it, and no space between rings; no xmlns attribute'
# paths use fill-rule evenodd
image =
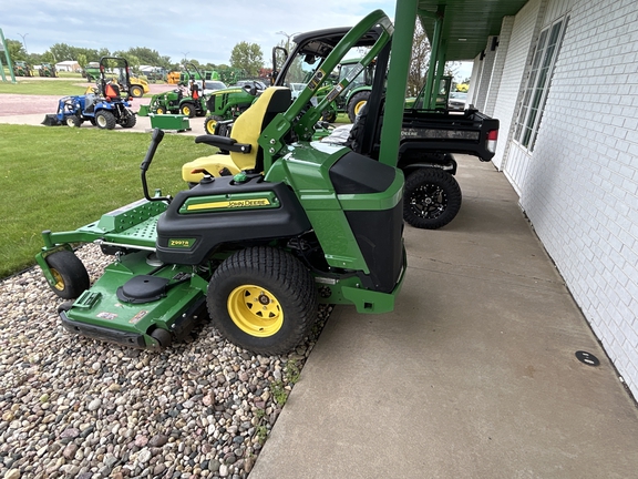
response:
<svg viewBox="0 0 638 479"><path fill-rule="evenodd" d="M521 204L635 397L637 108L638 2L575 1Z"/></svg>

